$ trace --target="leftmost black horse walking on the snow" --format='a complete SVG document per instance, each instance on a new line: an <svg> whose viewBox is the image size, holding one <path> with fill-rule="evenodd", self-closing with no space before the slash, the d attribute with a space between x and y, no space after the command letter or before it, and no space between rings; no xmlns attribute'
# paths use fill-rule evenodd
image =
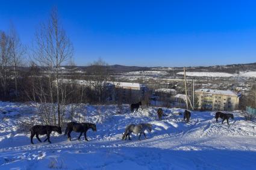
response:
<svg viewBox="0 0 256 170"><path fill-rule="evenodd" d="M51 143L50 134L52 131L58 132L59 134L61 134L61 127L60 126L51 126L51 125L35 125L35 126L31 127L30 128L31 144L34 144L33 138L35 135L36 135L36 138L39 140L39 142L42 142L39 138L39 135L47 135L47 138L45 139L45 141L47 141L47 139L48 139L48 142ZM45 142L45 141L43 141L43 142Z"/></svg>

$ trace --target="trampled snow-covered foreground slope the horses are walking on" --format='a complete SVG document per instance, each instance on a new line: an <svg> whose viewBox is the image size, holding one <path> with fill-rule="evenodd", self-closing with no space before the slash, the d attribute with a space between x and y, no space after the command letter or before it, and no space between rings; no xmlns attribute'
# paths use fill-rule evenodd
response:
<svg viewBox="0 0 256 170"><path fill-rule="evenodd" d="M228 126L216 123L214 112L192 112L187 124L178 108L163 108L166 116L158 121L157 109L131 114L128 105L121 110L82 105L76 120L97 126L97 132L87 132L89 142L77 141L75 132L72 141L52 133L52 144L34 138L31 145L20 122L40 123L33 106L0 102L0 169L255 169L256 123L245 121L239 111L232 112ZM133 135L132 141L122 141L131 123L151 123L148 139Z"/></svg>

